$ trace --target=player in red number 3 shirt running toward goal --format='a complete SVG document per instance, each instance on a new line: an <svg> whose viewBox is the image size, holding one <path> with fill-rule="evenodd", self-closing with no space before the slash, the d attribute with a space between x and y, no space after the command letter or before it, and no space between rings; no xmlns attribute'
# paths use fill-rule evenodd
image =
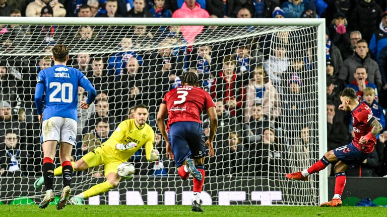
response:
<svg viewBox="0 0 387 217"><path fill-rule="evenodd" d="M200 193L205 176L205 145L209 149L209 156L214 156L212 141L218 125L215 103L208 92L198 87L198 81L195 73L184 73L181 78L183 86L165 94L157 114L157 126L166 143L167 157L174 159L181 179L187 180L189 174L193 176L192 211L203 211ZM210 117L210 135L206 142L200 119L203 110Z"/></svg>

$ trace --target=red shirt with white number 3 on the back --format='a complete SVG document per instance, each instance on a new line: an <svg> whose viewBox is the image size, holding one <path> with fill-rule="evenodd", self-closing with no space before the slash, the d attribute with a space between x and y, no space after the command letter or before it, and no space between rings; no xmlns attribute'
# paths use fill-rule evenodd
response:
<svg viewBox="0 0 387 217"><path fill-rule="evenodd" d="M163 98L168 109L169 126L175 122L198 122L202 123L200 115L203 110L215 107L215 103L208 92L196 86L180 86L167 92Z"/></svg>

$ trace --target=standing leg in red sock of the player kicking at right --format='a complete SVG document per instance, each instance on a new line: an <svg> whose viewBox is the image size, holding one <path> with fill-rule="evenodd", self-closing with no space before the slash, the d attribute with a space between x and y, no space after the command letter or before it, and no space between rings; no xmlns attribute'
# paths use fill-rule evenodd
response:
<svg viewBox="0 0 387 217"><path fill-rule="evenodd" d="M335 171L335 177L336 177L336 182L335 182L335 195L333 196L331 201L321 203L321 207L328 207L328 206L341 206L343 202L341 201L341 195L343 194L343 190L345 187L345 183L347 180L347 177L345 176L345 170L347 170L348 165L345 164L342 161L339 161L336 163L334 167Z"/></svg>

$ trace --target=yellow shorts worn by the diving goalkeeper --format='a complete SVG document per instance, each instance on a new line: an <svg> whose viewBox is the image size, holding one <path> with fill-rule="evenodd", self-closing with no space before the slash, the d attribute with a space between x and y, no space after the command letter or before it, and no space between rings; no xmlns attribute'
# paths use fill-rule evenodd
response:
<svg viewBox="0 0 387 217"><path fill-rule="evenodd" d="M104 175L105 177L109 173L117 173L117 167L121 161L113 158L106 152L104 152L101 147L94 149L93 151L87 153L82 159L86 162L89 168L104 165Z"/></svg>

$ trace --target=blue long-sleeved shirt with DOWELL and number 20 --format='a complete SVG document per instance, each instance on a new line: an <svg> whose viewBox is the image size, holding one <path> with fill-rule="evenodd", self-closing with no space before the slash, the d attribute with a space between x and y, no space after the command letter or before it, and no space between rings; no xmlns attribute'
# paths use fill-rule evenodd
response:
<svg viewBox="0 0 387 217"><path fill-rule="evenodd" d="M83 73L75 68L65 65L55 65L47 69L43 69L38 74L38 84L44 84L45 99L44 112L42 105L36 100L41 97L38 93L38 88L35 93L35 103L38 114L43 112L43 121L52 117L70 118L78 121L77 105L78 105L78 86L85 88L90 95L87 102L94 101L96 90L90 81ZM90 94L94 92L94 94ZM89 103L89 104L90 104Z"/></svg>

